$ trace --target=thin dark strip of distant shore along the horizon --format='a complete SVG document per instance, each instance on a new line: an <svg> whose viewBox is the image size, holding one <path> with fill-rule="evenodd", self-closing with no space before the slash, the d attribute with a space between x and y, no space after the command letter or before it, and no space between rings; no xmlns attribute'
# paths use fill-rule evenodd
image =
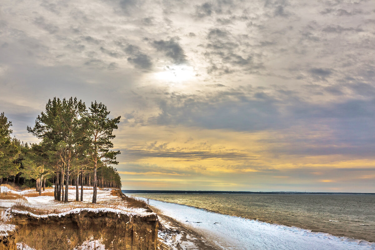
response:
<svg viewBox="0 0 375 250"><path fill-rule="evenodd" d="M350 192L251 192L251 191L192 191L192 190L121 190L123 193L186 193L186 194L283 194L283 195L375 195Z"/></svg>

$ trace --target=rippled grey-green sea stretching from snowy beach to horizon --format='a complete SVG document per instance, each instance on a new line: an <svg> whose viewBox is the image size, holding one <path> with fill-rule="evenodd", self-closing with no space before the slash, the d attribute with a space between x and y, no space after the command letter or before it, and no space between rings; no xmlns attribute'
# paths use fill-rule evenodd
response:
<svg viewBox="0 0 375 250"><path fill-rule="evenodd" d="M375 242L375 195L132 195Z"/></svg>

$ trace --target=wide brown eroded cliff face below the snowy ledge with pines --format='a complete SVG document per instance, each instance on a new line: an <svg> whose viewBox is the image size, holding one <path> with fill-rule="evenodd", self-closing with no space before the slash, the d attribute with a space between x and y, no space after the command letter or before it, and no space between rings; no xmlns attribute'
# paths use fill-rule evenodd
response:
<svg viewBox="0 0 375 250"><path fill-rule="evenodd" d="M17 225L17 240L36 249L73 249L87 238L103 239L106 249L156 250L156 214L80 210L48 216L10 211ZM0 248L0 250L2 250Z"/></svg>

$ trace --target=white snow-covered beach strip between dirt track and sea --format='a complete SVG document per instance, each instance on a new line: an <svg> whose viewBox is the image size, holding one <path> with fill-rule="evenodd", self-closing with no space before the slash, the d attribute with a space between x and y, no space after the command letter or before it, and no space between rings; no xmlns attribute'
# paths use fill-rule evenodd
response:
<svg viewBox="0 0 375 250"><path fill-rule="evenodd" d="M225 250L375 249L375 243L364 240L228 216L180 204L150 199L150 205Z"/></svg>

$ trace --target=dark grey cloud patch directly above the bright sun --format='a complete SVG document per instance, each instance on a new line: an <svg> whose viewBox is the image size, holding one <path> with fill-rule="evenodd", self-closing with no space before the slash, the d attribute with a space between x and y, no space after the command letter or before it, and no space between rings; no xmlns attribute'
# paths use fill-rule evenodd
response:
<svg viewBox="0 0 375 250"><path fill-rule="evenodd" d="M184 50L178 43L178 37L172 37L169 40L154 40L151 45L158 51L162 51L169 58L172 58L175 64L186 62Z"/></svg>

